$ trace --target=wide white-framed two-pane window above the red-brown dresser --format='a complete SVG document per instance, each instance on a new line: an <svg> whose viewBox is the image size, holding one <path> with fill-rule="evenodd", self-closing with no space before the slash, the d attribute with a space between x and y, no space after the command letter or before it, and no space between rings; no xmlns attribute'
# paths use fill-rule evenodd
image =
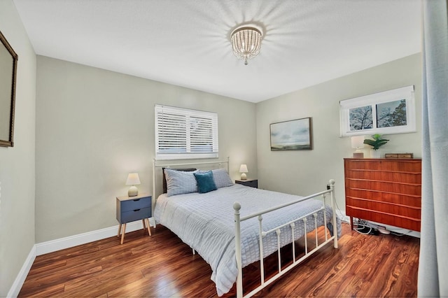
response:
<svg viewBox="0 0 448 298"><path fill-rule="evenodd" d="M415 132L414 86L339 101L341 136Z"/></svg>

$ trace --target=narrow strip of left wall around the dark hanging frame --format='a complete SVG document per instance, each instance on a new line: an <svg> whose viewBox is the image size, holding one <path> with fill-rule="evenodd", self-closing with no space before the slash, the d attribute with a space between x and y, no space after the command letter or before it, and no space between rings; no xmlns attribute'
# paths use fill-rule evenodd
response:
<svg viewBox="0 0 448 298"><path fill-rule="evenodd" d="M34 246L36 55L13 1L0 1L0 31L18 54L14 147L0 147L0 297Z"/></svg>

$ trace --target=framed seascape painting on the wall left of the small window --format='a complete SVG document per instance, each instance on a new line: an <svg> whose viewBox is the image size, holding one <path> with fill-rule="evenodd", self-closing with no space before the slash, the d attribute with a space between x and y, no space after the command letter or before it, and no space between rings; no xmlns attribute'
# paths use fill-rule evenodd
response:
<svg viewBox="0 0 448 298"><path fill-rule="evenodd" d="M272 123L271 151L312 150L311 118Z"/></svg>

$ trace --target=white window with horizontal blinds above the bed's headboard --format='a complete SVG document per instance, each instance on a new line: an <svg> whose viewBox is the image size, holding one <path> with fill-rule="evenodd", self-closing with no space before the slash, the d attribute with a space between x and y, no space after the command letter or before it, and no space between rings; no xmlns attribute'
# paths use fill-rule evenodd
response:
<svg viewBox="0 0 448 298"><path fill-rule="evenodd" d="M218 157L218 114L155 106L155 159Z"/></svg>

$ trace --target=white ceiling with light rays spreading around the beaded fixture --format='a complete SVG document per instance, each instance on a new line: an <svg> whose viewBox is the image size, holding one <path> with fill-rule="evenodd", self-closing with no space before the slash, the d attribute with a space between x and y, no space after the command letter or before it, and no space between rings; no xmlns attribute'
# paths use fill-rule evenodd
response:
<svg viewBox="0 0 448 298"><path fill-rule="evenodd" d="M421 51L420 0L14 0L37 55L259 102ZM244 65L230 31L255 23Z"/></svg>

